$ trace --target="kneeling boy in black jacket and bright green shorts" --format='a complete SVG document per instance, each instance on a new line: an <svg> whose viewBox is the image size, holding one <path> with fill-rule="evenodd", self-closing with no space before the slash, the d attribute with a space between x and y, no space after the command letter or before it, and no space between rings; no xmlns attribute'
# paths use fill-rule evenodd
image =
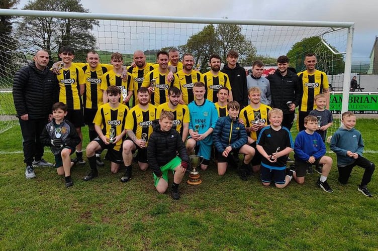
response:
<svg viewBox="0 0 378 251"><path fill-rule="evenodd" d="M181 136L172 129L174 115L171 111L161 111L160 118L154 120L153 129L148 140L147 159L153 170L156 190L165 193L168 188L168 171L173 171L172 198L178 200L180 184L189 163ZM178 155L177 156L177 152Z"/></svg>

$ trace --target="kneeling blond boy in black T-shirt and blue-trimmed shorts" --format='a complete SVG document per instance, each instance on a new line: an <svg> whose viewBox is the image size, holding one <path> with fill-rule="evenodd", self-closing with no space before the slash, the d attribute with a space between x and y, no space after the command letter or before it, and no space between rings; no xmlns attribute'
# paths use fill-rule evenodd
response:
<svg viewBox="0 0 378 251"><path fill-rule="evenodd" d="M293 178L292 173L286 175L286 160L293 151L292 135L286 127L282 127L284 114L282 110L273 108L268 113L270 126L264 127L256 143L261 154L261 182L269 186L272 181L278 188L286 187Z"/></svg>

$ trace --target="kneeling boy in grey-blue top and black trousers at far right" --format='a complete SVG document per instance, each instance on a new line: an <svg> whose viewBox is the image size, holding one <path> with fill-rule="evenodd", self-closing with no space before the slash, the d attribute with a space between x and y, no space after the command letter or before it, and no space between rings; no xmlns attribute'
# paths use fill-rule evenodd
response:
<svg viewBox="0 0 378 251"><path fill-rule="evenodd" d="M339 128L331 139L329 148L336 153L337 169L339 170L339 181L346 184L350 177L353 167L359 166L365 169L361 184L357 190L367 197L372 194L366 185L370 182L371 176L375 170L375 165L371 161L362 157L363 141L361 133L354 129L356 124L356 116L353 112L345 111L341 115L343 127Z"/></svg>

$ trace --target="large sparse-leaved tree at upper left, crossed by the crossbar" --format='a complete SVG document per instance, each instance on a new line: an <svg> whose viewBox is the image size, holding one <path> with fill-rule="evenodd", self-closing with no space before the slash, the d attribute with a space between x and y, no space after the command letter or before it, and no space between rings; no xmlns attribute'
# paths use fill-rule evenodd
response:
<svg viewBox="0 0 378 251"><path fill-rule="evenodd" d="M34 0L28 2L25 10L82 12L88 13L80 0ZM24 17L17 29L20 44L30 48L44 49L49 55L61 46L70 45L75 50L75 59L85 60L85 53L96 47L96 38L91 34L99 22L89 19L52 17Z"/></svg>

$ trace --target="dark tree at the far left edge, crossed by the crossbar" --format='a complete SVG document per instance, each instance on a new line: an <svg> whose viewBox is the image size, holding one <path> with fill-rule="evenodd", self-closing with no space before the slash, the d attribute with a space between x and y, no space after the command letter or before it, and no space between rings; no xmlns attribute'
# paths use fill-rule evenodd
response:
<svg viewBox="0 0 378 251"><path fill-rule="evenodd" d="M0 0L0 9L14 9L18 0ZM12 36L12 19L0 16L0 77L7 76L14 66L14 52L17 48Z"/></svg>

